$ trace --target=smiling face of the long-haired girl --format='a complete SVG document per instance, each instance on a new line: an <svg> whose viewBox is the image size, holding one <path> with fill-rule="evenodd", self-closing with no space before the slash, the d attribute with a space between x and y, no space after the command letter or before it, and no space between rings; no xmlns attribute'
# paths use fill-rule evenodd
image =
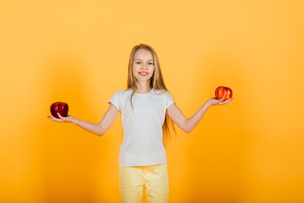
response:
<svg viewBox="0 0 304 203"><path fill-rule="evenodd" d="M135 52L133 61L133 75L138 82L148 82L154 72L154 61L152 53L148 50L140 49Z"/></svg>

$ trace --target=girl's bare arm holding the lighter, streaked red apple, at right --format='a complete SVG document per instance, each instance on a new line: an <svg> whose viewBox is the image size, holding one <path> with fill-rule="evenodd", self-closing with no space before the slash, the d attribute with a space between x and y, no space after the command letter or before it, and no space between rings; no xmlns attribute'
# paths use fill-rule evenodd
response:
<svg viewBox="0 0 304 203"><path fill-rule="evenodd" d="M169 117L173 122L186 133L190 133L195 126L202 120L203 116L207 112L210 106L212 105L223 105L228 104L232 101L232 98L229 98L226 101L223 101L224 98L217 100L214 98L206 101L203 106L190 118L186 118L182 111L177 107L175 103L169 106L167 109Z"/></svg>

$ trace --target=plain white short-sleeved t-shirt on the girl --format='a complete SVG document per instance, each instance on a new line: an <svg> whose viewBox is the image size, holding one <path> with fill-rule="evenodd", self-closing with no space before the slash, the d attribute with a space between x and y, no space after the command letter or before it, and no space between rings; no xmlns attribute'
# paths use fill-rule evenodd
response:
<svg viewBox="0 0 304 203"><path fill-rule="evenodd" d="M109 100L120 111L123 140L119 148L119 165L152 166L167 164L162 126L167 108L174 103L169 92L152 90L146 94L132 90L118 91Z"/></svg>

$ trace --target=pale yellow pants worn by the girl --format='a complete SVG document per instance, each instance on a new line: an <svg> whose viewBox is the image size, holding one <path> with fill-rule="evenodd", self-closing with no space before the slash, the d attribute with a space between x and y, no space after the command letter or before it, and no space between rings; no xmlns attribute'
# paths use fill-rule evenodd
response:
<svg viewBox="0 0 304 203"><path fill-rule="evenodd" d="M147 203L169 202L167 164L144 167L119 167L121 203L141 203L143 188Z"/></svg>

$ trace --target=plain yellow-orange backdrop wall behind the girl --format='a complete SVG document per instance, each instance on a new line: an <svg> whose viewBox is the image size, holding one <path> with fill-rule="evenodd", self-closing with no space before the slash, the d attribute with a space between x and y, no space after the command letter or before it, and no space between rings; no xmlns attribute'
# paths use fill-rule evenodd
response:
<svg viewBox="0 0 304 203"><path fill-rule="evenodd" d="M119 116L103 136L51 122L50 105L99 122L138 43L158 53L187 117L167 147L171 203L304 202L302 0L1 0L0 202L118 203Z"/></svg>

